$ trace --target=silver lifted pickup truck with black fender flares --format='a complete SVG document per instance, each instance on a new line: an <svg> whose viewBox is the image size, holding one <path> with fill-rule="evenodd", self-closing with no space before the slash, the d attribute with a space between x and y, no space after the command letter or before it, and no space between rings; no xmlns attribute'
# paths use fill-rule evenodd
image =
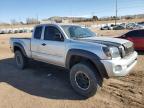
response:
<svg viewBox="0 0 144 108"><path fill-rule="evenodd" d="M137 63L133 43L98 37L78 25L42 24L32 38L11 38L19 69L34 59L70 70L70 82L79 94L93 96L103 78L127 75Z"/></svg>

